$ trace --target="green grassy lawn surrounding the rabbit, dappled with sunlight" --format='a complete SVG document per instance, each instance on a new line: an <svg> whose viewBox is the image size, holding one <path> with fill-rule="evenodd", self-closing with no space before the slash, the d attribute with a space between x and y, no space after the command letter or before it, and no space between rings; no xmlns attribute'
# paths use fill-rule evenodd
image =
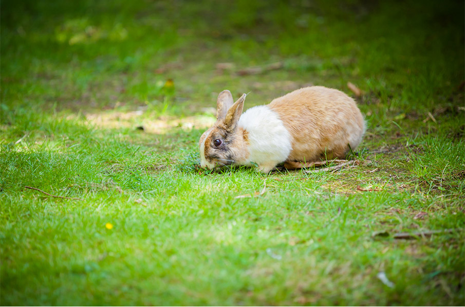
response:
<svg viewBox="0 0 465 307"><path fill-rule="evenodd" d="M2 1L1 304L463 305L460 12ZM251 92L247 108L348 81L368 124L358 167L195 167L222 89Z"/></svg>

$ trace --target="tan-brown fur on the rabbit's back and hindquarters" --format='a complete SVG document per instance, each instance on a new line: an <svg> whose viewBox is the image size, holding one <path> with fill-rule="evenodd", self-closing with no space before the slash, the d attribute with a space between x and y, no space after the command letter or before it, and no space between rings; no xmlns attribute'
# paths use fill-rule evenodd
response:
<svg viewBox="0 0 465 307"><path fill-rule="evenodd" d="M344 158L365 132L365 121L354 99L337 89L297 89L268 105L292 136L288 161ZM349 145L348 145L349 144Z"/></svg>

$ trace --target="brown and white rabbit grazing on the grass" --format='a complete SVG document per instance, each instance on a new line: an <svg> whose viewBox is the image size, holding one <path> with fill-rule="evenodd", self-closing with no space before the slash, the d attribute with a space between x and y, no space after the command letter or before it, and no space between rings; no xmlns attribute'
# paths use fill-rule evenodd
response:
<svg viewBox="0 0 465 307"><path fill-rule="evenodd" d="M199 141L202 168L258 165L268 173L285 161L344 158L365 133L356 102L337 89L304 87L242 114L245 99L219 93L216 122Z"/></svg>

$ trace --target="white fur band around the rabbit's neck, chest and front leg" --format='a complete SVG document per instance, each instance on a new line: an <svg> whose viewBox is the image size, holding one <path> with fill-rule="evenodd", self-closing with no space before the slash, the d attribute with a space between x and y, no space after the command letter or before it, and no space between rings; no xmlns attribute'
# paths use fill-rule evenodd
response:
<svg viewBox="0 0 465 307"><path fill-rule="evenodd" d="M238 126L248 132L250 162L265 173L287 159L292 140L283 121L267 105L254 106L240 116Z"/></svg>

